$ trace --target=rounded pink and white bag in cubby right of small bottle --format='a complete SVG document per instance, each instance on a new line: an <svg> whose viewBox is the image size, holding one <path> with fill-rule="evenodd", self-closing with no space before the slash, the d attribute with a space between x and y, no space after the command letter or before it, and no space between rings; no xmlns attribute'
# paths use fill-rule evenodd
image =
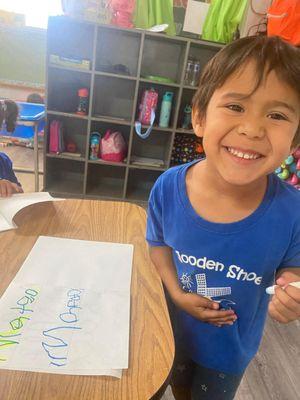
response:
<svg viewBox="0 0 300 400"><path fill-rule="evenodd" d="M108 129L101 139L100 154L102 160L122 162L127 155L127 144L122 133Z"/></svg>

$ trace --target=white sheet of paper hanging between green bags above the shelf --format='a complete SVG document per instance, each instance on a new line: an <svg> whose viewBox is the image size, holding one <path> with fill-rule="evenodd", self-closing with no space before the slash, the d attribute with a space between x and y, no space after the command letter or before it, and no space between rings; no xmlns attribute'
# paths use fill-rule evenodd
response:
<svg viewBox="0 0 300 400"><path fill-rule="evenodd" d="M189 0L185 12L183 31L201 35L210 4Z"/></svg>

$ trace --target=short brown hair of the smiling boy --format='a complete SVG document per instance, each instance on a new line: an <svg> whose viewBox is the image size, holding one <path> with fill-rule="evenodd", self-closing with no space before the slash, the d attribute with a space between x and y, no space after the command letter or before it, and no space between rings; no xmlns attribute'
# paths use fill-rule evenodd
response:
<svg viewBox="0 0 300 400"><path fill-rule="evenodd" d="M199 117L205 116L208 103L216 89L249 61L255 61L257 82L253 92L271 71L297 93L300 100L300 48L278 36L248 36L236 40L219 51L202 71L199 88L193 98L193 108ZM292 146L300 144L300 127Z"/></svg>

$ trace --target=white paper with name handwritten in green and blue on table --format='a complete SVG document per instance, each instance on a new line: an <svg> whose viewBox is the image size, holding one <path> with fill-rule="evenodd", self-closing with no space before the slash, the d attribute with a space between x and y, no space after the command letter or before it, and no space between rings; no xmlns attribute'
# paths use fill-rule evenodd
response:
<svg viewBox="0 0 300 400"><path fill-rule="evenodd" d="M0 368L121 376L133 246L39 237L0 300Z"/></svg>

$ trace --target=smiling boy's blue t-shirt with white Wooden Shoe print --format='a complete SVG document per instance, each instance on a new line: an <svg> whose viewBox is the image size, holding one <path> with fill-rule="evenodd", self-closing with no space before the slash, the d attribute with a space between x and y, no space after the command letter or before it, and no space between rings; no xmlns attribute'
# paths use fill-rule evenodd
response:
<svg viewBox="0 0 300 400"><path fill-rule="evenodd" d="M178 310L179 340L196 363L239 374L262 337L276 270L300 266L300 193L275 175L259 207L245 219L213 223L193 209L186 172L171 168L156 181L149 199L146 239L169 246L181 287L235 310L238 319L222 328ZM203 188L205 190L205 188Z"/></svg>

